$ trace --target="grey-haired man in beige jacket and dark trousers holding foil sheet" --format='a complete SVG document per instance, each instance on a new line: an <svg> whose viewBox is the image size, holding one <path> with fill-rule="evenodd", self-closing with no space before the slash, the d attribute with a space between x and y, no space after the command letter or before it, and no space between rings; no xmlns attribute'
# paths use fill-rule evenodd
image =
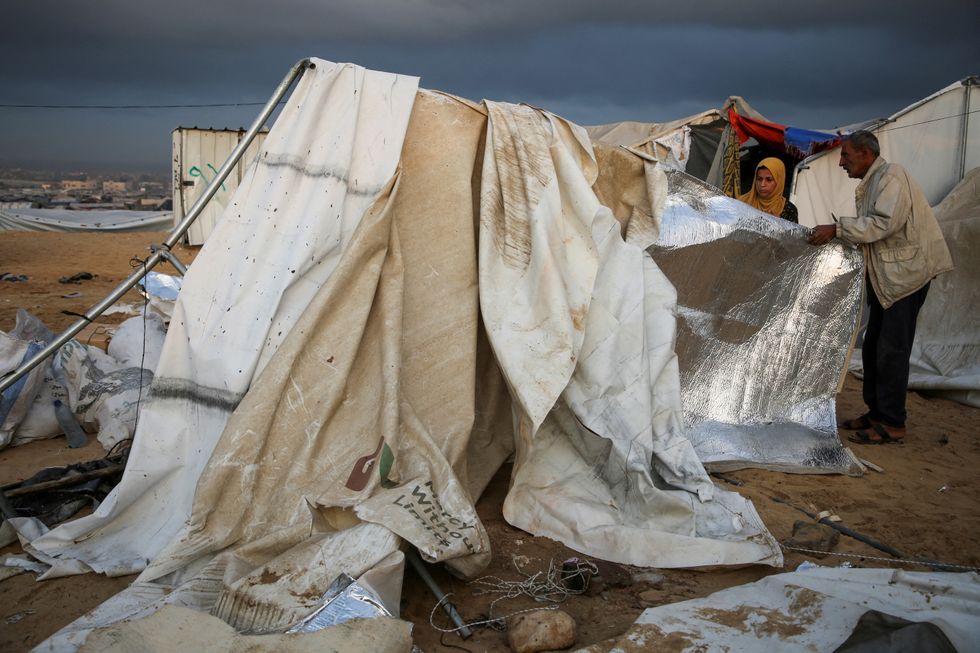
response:
<svg viewBox="0 0 980 653"><path fill-rule="evenodd" d="M915 322L936 275L953 260L936 216L918 184L900 165L880 156L878 139L867 131L845 137L840 166L860 179L854 193L857 217L813 228L809 241L840 238L864 250L870 312L861 348L864 403L868 412L840 424L856 430L861 444L901 442L905 437L905 394Z"/></svg>

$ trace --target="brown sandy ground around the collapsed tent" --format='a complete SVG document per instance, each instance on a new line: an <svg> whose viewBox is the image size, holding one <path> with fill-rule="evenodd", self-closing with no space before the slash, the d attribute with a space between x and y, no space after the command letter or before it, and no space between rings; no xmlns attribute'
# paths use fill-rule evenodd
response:
<svg viewBox="0 0 980 653"><path fill-rule="evenodd" d="M18 308L30 310L52 329L69 326L76 318L62 311L87 310L128 274L132 257L145 258L147 246L162 239L161 234L0 234L0 273L30 277L26 283L0 282L0 330L13 328ZM177 250L185 262L193 260L194 254L193 250ZM95 277L79 285L58 283L59 277L81 271ZM160 271L172 273L166 265ZM63 297L73 292L81 296ZM122 301L138 305L142 298L130 292ZM104 321L112 324L122 319L124 316L114 315ZM750 498L779 540L789 537L796 521L810 520L777 500L812 513L831 511L844 525L910 558L980 567L980 476L976 474L980 466L980 410L917 393L910 393L908 399L909 437L905 444L852 446L858 456L883 468L882 473L869 471L863 477L849 478L744 470L724 475L727 481L719 483ZM863 412L862 408L860 382L848 377L838 398L838 414L852 417ZM104 454L94 439L82 449L68 449L63 438L6 449L0 451L0 485L27 478L46 466L92 460ZM509 473L509 466L500 470L477 509L494 549L485 575L519 581L546 572L552 561L560 564L578 554L504 522L501 504ZM10 546L0 553L18 551L19 547ZM577 645L585 646L622 633L646 607L706 596L792 570L804 560L824 565L848 562L854 566L926 568L895 562L888 554L847 537L841 538L835 552L853 557L817 560L810 554L786 551L783 569L752 566L709 571L638 570L597 561L600 577L589 592L572 596L562 609L577 622ZM635 575L643 571L655 571L662 579L636 579ZM491 601L498 596L480 594L479 585L453 579L441 569L432 572L442 589L452 593L465 620L486 618ZM25 573L0 582L0 650L29 650L131 580L89 574L36 582L33 574ZM435 598L414 573L406 572L402 617L415 624L416 643L426 653L507 650L506 633L493 628L476 627L466 641L440 632L430 625L435 604ZM504 599L494 606L493 616L539 606L528 598ZM432 619L439 627L449 627L441 611Z"/></svg>

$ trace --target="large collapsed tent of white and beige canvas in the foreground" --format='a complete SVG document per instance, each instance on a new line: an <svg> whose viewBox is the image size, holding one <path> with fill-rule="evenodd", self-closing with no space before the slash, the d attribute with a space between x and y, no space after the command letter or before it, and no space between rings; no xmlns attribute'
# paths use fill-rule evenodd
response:
<svg viewBox="0 0 980 653"><path fill-rule="evenodd" d="M853 254L804 252L798 231L719 212L545 111L417 84L324 61L301 79L185 276L122 482L29 538L49 577L143 572L51 647L166 603L282 628L340 573L400 570L403 541L471 577L491 554L474 503L511 454L504 516L530 533L643 566L780 564L687 435L677 291L650 254L662 225L665 255L766 234L774 263L727 297L741 314L688 305L698 337L732 345L688 378L746 356L784 378L805 355L815 386L842 369L826 356L849 342ZM681 243L692 209L716 217L688 216ZM756 320L762 300L807 319ZM825 389L721 410L709 389L701 415L824 426ZM835 455L797 464L841 462L833 427L821 437Z"/></svg>

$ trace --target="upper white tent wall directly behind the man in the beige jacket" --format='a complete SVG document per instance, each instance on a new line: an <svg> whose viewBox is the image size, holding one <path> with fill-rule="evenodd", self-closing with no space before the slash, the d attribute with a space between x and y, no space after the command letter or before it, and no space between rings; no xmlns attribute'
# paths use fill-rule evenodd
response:
<svg viewBox="0 0 980 653"><path fill-rule="evenodd" d="M980 166L980 78L966 77L863 128L878 136L881 154L900 163L935 206L966 175ZM800 224L826 224L834 215L854 214L854 189L838 167L840 147L815 154L796 168L790 201Z"/></svg>

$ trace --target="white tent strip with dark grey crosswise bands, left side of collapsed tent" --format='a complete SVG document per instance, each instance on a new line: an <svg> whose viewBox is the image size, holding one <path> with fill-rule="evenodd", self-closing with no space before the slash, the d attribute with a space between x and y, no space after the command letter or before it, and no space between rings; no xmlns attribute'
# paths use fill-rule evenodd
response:
<svg viewBox="0 0 980 653"><path fill-rule="evenodd" d="M395 173L417 79L315 63L184 278L122 481L38 550L110 575L143 569L187 520L228 417Z"/></svg>

